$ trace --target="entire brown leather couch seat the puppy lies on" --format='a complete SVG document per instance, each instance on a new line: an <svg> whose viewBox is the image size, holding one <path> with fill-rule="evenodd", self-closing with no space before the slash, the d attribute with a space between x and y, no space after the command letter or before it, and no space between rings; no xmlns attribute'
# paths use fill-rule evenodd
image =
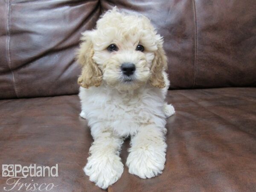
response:
<svg viewBox="0 0 256 192"><path fill-rule="evenodd" d="M144 180L125 167L108 191L255 192L256 88L170 90L167 100L176 114L167 120L163 174ZM35 182L58 185L52 192L101 191L82 171L92 138L78 96L6 99L0 108L0 165L58 163L59 177ZM127 140L123 163L128 147ZM0 191L5 183L0 177Z"/></svg>

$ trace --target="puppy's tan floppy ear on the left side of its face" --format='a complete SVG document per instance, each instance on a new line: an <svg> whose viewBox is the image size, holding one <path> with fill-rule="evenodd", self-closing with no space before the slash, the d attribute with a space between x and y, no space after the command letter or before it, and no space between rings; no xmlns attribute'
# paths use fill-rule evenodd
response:
<svg viewBox="0 0 256 192"><path fill-rule="evenodd" d="M91 32L84 32L81 40L77 61L82 66L82 73L79 76L77 83L84 88L90 86L98 87L102 81L102 71L98 65L93 61L93 43L90 38Z"/></svg>

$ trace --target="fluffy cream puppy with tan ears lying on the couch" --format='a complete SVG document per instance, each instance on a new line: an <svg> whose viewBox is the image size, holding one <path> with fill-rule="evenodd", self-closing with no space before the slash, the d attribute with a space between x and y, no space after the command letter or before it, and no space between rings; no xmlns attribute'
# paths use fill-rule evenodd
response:
<svg viewBox="0 0 256 192"><path fill-rule="evenodd" d="M85 174L102 189L115 183L124 169L119 153L128 136L129 172L140 178L161 174L166 118L175 113L165 102L169 80L163 38L147 17L116 7L82 35L80 116L88 120L94 140Z"/></svg>

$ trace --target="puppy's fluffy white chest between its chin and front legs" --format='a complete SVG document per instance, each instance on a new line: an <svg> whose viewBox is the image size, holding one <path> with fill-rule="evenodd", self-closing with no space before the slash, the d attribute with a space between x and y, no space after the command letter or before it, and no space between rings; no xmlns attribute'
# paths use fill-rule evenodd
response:
<svg viewBox="0 0 256 192"><path fill-rule="evenodd" d="M140 126L164 117L163 102L155 94L95 93L81 88L79 96L90 127L98 124L120 136L136 134Z"/></svg>

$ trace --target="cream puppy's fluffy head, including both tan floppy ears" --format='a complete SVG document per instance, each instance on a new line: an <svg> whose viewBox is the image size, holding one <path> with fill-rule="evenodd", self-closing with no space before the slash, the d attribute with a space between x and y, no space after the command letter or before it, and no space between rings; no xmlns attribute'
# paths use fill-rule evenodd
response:
<svg viewBox="0 0 256 192"><path fill-rule="evenodd" d="M82 40L78 55L82 87L102 81L118 90L134 90L147 82L165 87L163 40L148 18L113 9L98 20L96 30L84 32Z"/></svg>

